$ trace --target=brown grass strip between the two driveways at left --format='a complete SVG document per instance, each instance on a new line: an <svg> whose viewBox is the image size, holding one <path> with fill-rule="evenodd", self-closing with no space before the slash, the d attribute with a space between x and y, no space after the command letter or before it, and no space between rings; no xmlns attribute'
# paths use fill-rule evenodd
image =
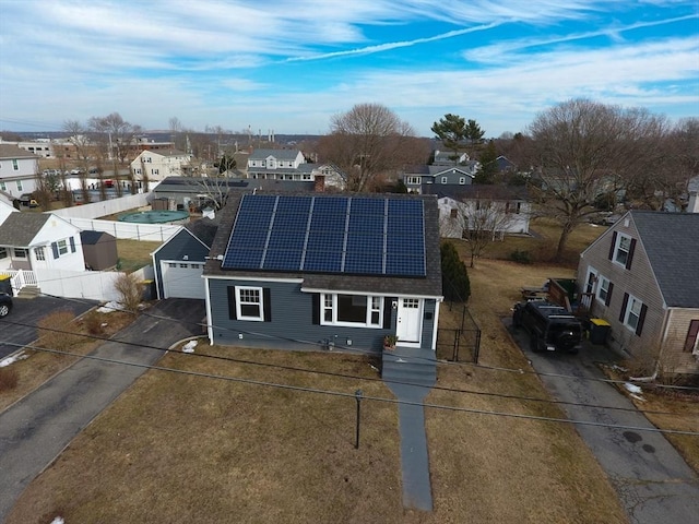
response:
<svg viewBox="0 0 699 524"><path fill-rule="evenodd" d="M90 335L91 326L94 326L94 323L98 323L103 330L100 336L109 337L133 321L132 314L120 311L111 313L91 311L87 314L92 315L93 320L85 321L84 318L73 320L73 314L68 311L59 311L48 315L42 320L43 330L39 330L39 338L32 346L87 355L102 344L102 341L81 336ZM73 341L73 344L67 346L63 343L66 340ZM0 412L79 359L79 357L31 348L25 349L24 353L28 358L14 362L10 368L16 373L15 386L11 390L0 390Z"/></svg>

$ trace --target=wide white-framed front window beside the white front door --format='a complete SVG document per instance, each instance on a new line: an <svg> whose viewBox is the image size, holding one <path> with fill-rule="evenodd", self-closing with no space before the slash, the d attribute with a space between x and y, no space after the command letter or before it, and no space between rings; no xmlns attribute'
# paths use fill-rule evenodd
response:
<svg viewBox="0 0 699 524"><path fill-rule="evenodd" d="M324 293L321 295L321 323L380 327L383 299L364 295Z"/></svg>

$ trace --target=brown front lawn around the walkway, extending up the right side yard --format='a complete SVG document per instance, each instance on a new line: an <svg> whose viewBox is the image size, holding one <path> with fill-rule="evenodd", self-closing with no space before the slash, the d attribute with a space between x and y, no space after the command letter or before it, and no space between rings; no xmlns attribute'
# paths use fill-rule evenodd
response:
<svg viewBox="0 0 699 524"><path fill-rule="evenodd" d="M501 318L522 285L557 266L481 260L470 270L481 362L528 366ZM445 315L445 319L447 315ZM169 354L161 365L265 382L391 397L366 358L209 347L343 379ZM546 396L529 373L440 365L438 385ZM549 404L434 390L427 402L560 417ZM624 523L616 493L567 425L427 408L435 510L402 505L396 406L364 401L354 449L352 397L151 371L83 431L24 492L8 524L67 522ZM591 503L594 501L594 503Z"/></svg>

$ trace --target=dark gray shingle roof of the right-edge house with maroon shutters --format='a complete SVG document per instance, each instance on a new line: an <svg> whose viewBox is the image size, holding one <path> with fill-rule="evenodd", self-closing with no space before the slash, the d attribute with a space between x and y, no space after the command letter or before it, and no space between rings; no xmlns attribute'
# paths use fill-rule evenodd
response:
<svg viewBox="0 0 699 524"><path fill-rule="evenodd" d="M631 211L665 303L699 308L699 214Z"/></svg>

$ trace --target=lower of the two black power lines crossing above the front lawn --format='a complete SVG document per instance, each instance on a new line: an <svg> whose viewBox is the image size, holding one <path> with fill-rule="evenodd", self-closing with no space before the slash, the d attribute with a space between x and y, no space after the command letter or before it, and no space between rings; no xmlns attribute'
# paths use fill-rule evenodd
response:
<svg viewBox="0 0 699 524"><path fill-rule="evenodd" d="M19 344L14 344L14 345L19 346ZM154 366L154 365L149 365L149 364L127 362L127 361L123 361L123 360L118 360L118 359L112 359L112 358L98 357L96 355L79 355L79 354L74 354L74 353L70 353L70 352L62 352L62 350L58 350L58 349L39 348L39 347L34 347L34 346L27 346L27 347L31 347L32 349L35 349L35 350L38 350L38 352L52 353L52 354L57 354L57 355L74 356L74 357L80 357L80 358L88 358L88 359L98 360L98 361L108 362L108 364L117 364L117 365L121 365L121 366L132 366L132 367L138 367L138 368L155 370L155 371L168 371L168 372L187 374L187 376L192 376L192 377L200 377L200 378L206 378L206 379L216 379L216 380L226 380L226 381L230 381L230 382L239 382L239 383L245 383L245 384L261 385L261 386L283 389L283 390L292 390L292 391L298 391L298 392L305 392L305 393L325 394L325 395L342 396L342 397L347 397L347 398L354 398L355 397L355 393L354 392L352 392L352 393L343 393L343 392L339 392L339 391L329 391L329 390L321 390L321 389L317 389L317 388L306 388L306 386L291 385L291 384L280 384L280 383L275 383L275 382L266 382L266 381L247 379L247 378L241 378L241 377L229 377L229 376L223 376L223 374L204 373L204 372L200 372L200 371L167 368L167 367L164 367L164 366ZM604 427L604 428L611 428L611 429L625 429L625 430L633 430L633 431L647 431L647 432L664 433L664 434L686 434L686 436L692 436L692 437L694 436L699 436L699 432L697 432L697 431L684 431L684 430L674 430L674 429L659 429L659 428L654 428L654 427L653 428L642 428L642 427L637 427L637 426L623 426L623 425L615 425L615 424L595 422L595 421L591 421L591 420L571 420L571 419L567 419L567 418L543 417L543 416L536 416L536 415L524 415L524 414L507 413L507 412L490 412L490 410L487 410L487 409L475 409L475 408L470 408L470 407L447 406L447 405L442 405L442 404L431 404L431 403L413 402L413 401L401 401L401 400L398 400L398 398L386 398L386 397L382 397L382 396L363 396L362 400L375 401L375 402L384 402L384 403L396 404L396 405L401 405L402 404L402 405L412 405L412 406L424 406L424 407L429 407L429 408L433 408L433 409L443 409L443 410L451 410L451 412L471 413L471 414L476 414L476 415L491 415L491 416L498 416L498 417L519 418L519 419L524 419L524 420L537 420L537 421L559 422L559 424L573 424L573 425L579 425L579 426L594 426L594 427Z"/></svg>

